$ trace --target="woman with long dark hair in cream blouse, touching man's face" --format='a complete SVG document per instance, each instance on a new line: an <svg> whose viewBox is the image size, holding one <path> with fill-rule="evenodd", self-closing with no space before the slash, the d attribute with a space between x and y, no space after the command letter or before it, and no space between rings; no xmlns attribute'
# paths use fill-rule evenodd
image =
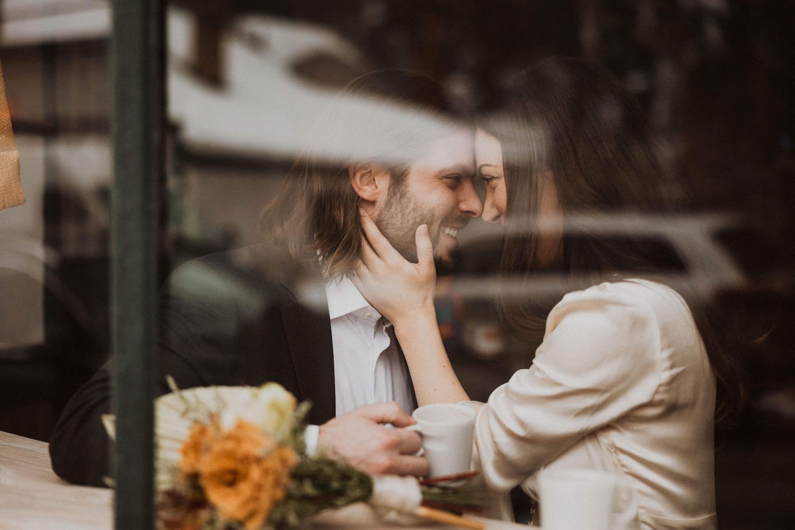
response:
<svg viewBox="0 0 795 530"><path fill-rule="evenodd" d="M536 497L542 469L608 470L634 492L626 528L715 528L715 413L740 388L731 357L697 286L666 285L670 252L589 233L611 216L665 222L681 212L674 173L626 88L582 60L534 65L508 109L475 138L483 219L506 228L499 314L541 345L479 411L483 479ZM417 229L419 263L366 216L363 229L351 277L394 324L418 403L467 400L436 325L427 229ZM562 298L527 294L544 273L567 286Z"/></svg>

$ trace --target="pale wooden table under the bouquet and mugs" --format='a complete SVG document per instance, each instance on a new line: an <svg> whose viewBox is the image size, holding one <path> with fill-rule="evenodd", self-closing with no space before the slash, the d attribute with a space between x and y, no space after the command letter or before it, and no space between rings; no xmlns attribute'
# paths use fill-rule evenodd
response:
<svg viewBox="0 0 795 530"><path fill-rule="evenodd" d="M105 488L71 485L52 472L48 444L0 431L0 530L111 530L113 528L113 492ZM355 507L351 507L355 510ZM356 519L356 518L354 518ZM488 530L527 528L475 517ZM312 530L339 528L328 524L311 524ZM432 528L444 525L374 524L359 518L358 528Z"/></svg>

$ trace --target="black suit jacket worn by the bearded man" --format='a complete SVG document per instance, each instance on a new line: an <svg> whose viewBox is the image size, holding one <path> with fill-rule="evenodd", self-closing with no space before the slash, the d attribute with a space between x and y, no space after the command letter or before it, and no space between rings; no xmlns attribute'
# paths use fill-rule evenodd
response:
<svg viewBox="0 0 795 530"><path fill-rule="evenodd" d="M159 392L275 381L312 400L310 423L335 415L334 353L320 271L302 270L281 247L255 245L184 263L161 289ZM70 399L50 440L52 469L103 485L110 444L109 360Z"/></svg>

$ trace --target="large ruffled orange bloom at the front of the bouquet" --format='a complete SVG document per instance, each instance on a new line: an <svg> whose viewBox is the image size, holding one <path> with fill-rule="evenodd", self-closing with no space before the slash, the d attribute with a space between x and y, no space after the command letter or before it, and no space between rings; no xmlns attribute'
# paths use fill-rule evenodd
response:
<svg viewBox="0 0 795 530"><path fill-rule="evenodd" d="M297 462L295 451L274 446L257 426L238 419L201 460L199 481L207 500L223 517L256 530L273 505L284 499Z"/></svg>

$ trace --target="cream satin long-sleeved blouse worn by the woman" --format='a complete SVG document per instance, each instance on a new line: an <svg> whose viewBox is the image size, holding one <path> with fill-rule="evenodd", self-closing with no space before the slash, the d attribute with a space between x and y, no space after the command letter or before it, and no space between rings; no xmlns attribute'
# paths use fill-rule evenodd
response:
<svg viewBox="0 0 795 530"><path fill-rule="evenodd" d="M544 468L609 470L634 491L626 528L715 528L714 411L715 378L679 294L603 283L550 312L533 364L479 411L475 459L490 489L522 484L536 498Z"/></svg>

